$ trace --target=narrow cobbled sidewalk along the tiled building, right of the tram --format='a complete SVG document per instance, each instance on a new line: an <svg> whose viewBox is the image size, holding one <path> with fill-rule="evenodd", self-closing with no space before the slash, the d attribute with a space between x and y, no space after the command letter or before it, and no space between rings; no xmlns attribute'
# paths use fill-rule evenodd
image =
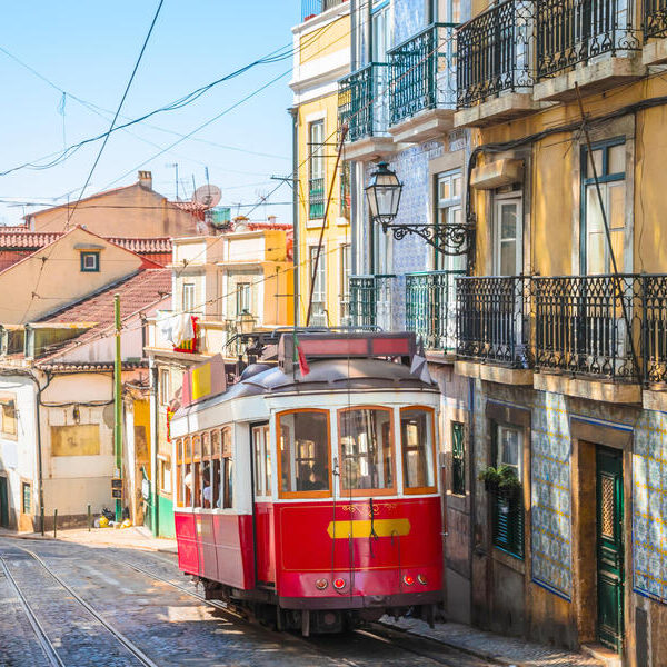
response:
<svg viewBox="0 0 667 667"><path fill-rule="evenodd" d="M485 633L458 623L437 623L434 629L422 620L414 618L394 620L385 616L380 623L501 665L515 667L600 667L603 665L580 653L559 650L516 637Z"/></svg>

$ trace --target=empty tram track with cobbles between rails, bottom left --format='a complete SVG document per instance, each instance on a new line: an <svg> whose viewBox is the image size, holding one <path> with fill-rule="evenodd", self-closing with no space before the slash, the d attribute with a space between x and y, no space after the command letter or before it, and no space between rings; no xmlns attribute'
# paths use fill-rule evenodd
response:
<svg viewBox="0 0 667 667"><path fill-rule="evenodd" d="M40 556L23 547L14 547L14 549L18 549L19 552L14 550L13 552L6 551L0 554L0 565L2 566L4 576L18 596L49 665L57 667L81 665L80 654L90 649L96 654L94 664L104 665L106 667L129 667L131 665L159 667L137 645L89 605L69 584L63 581ZM16 577L14 573L12 573L12 560L24 561L26 556L39 567L38 571L28 573L31 575L29 580L23 578L21 581L20 577ZM24 563L21 569L26 569ZM46 584L43 577L40 581L39 571L48 575L50 579L56 581L59 589L67 591L68 595L63 596L61 593L60 599L56 603L49 600L49 594L56 591L51 591L52 587ZM56 596L53 595L52 597ZM72 600L76 605L72 605ZM60 613L57 613L56 610L59 606ZM64 614L62 614L63 607L69 607ZM86 623L81 610L87 613L87 617L92 617L94 620L92 625ZM68 616L70 617L70 627L44 627L43 617L58 618L60 620ZM40 620L40 617L42 620ZM108 644L103 641L103 637L100 635L102 628L113 637L115 643ZM79 655L72 655L74 653L72 647L76 647L76 651Z"/></svg>

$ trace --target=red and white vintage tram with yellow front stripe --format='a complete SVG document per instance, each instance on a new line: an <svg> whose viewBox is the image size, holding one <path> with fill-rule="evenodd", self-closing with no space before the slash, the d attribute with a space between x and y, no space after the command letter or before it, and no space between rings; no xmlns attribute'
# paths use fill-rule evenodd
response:
<svg viewBox="0 0 667 667"><path fill-rule="evenodd" d="M282 335L278 365L186 377L171 419L181 570L278 628L337 631L442 599L437 387L409 334ZM188 405L189 404L189 405Z"/></svg>

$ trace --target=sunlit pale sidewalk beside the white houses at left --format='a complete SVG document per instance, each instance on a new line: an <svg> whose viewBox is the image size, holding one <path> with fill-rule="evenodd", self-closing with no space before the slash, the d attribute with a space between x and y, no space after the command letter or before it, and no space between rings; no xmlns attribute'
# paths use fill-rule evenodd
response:
<svg viewBox="0 0 667 667"><path fill-rule="evenodd" d="M47 532L43 537L40 532L12 532L0 529L0 537L12 537L16 539L53 539L53 532ZM58 541L73 542L87 547L119 547L126 549L143 549L146 551L161 551L176 554L176 540L162 537L153 537L150 530L143 526L131 528L72 528L58 531Z"/></svg>

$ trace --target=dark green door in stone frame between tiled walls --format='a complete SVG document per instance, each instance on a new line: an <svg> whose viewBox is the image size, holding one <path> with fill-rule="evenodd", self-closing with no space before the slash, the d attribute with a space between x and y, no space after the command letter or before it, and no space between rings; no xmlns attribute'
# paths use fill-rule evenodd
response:
<svg viewBox="0 0 667 667"><path fill-rule="evenodd" d="M623 648L623 452L597 448L597 634L600 644Z"/></svg>

